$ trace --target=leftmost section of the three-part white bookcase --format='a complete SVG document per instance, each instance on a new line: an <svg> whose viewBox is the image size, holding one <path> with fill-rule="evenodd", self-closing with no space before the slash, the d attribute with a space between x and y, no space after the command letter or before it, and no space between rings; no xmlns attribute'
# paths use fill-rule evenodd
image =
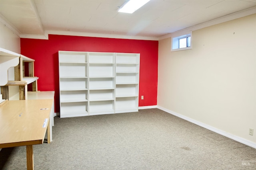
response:
<svg viewBox="0 0 256 170"><path fill-rule="evenodd" d="M59 51L60 117L88 115L88 53Z"/></svg>

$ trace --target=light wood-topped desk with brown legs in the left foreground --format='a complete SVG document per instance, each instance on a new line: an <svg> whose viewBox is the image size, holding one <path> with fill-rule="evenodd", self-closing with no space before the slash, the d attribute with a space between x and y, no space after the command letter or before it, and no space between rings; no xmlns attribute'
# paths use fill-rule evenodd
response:
<svg viewBox="0 0 256 170"><path fill-rule="evenodd" d="M44 142L46 128L50 143L52 102L13 100L0 104L0 148L26 146L28 170L34 169L33 145Z"/></svg>

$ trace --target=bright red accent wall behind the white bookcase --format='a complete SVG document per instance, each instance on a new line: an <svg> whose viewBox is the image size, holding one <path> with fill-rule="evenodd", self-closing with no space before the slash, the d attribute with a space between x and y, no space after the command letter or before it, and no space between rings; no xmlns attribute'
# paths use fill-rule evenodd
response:
<svg viewBox="0 0 256 170"><path fill-rule="evenodd" d="M58 51L140 53L139 106L157 104L158 41L49 35L48 40L20 39L21 54L35 60L39 91L55 91L55 112L60 111ZM75 84L74 84L75 86Z"/></svg>

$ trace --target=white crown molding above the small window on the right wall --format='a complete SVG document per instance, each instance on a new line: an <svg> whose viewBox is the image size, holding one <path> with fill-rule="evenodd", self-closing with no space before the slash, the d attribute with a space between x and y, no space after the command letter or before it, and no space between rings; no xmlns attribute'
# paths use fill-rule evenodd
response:
<svg viewBox="0 0 256 170"><path fill-rule="evenodd" d="M234 12L232 14L228 14L226 16L222 16L222 17L216 18L214 20L206 21L204 23L200 23L200 24L194 25L192 27L187 27L185 29L181 29L181 30L173 32L173 33L169 33L169 34L160 36L160 37L158 37L158 40L170 38L174 34L185 33L185 32L188 32L188 31L196 31L198 29L202 29L202 28L205 28L205 27L209 27L209 26L212 26L212 25L219 24L219 23L224 23L224 22L227 22L227 21L235 20L235 19L238 19L238 18L242 18L242 17L245 17L245 16L252 15L252 14L256 14L256 6L251 7L251 8L247 8L245 10L241 10L241 11L238 11L238 12Z"/></svg>

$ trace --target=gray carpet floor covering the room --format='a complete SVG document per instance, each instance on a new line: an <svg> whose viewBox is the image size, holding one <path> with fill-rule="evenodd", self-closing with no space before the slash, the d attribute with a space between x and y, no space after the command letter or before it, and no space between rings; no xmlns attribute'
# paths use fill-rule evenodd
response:
<svg viewBox="0 0 256 170"><path fill-rule="evenodd" d="M256 149L160 109L54 123L35 170L256 170ZM2 149L0 169L25 170L26 147Z"/></svg>

